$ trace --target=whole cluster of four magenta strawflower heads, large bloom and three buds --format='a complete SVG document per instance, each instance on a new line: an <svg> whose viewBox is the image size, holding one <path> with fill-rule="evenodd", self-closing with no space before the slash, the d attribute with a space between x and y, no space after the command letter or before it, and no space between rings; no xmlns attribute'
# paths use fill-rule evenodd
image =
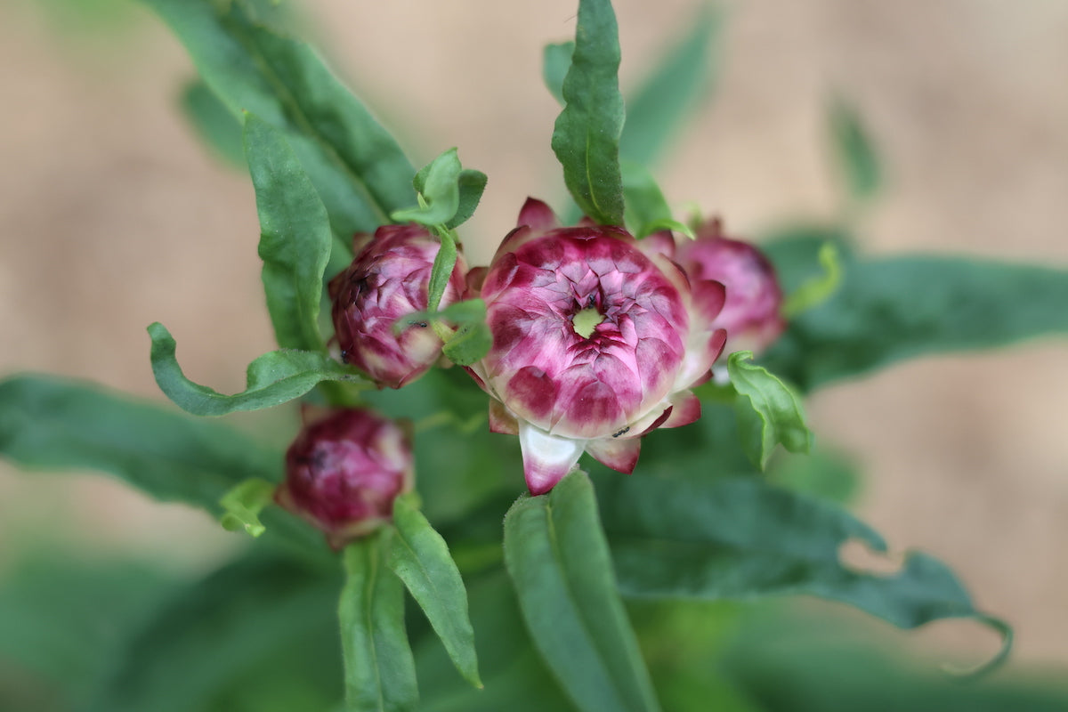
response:
<svg viewBox="0 0 1068 712"><path fill-rule="evenodd" d="M409 224L359 236L356 247L330 283L342 357L380 386L400 387L441 358L437 332L404 322L427 307L439 243ZM488 267L469 272L457 262L441 306L475 297L492 347L467 368L490 396L490 429L519 437L533 494L583 453L632 472L643 436L700 417L691 389L725 348L763 350L785 328L771 265L718 220L695 240L670 232L638 240L590 221L562 226L533 199ZM366 411L305 428L286 462L279 501L335 543L388 519L411 484L407 439Z"/></svg>

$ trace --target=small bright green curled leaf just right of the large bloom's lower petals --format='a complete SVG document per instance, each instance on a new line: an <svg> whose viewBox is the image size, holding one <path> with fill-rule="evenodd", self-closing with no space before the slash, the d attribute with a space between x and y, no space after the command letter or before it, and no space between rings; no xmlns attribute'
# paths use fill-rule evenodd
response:
<svg viewBox="0 0 1068 712"><path fill-rule="evenodd" d="M812 432L804 422L801 398L763 366L747 363L752 351L735 351L727 359L742 448L764 470L775 445L791 453L807 453Z"/></svg>

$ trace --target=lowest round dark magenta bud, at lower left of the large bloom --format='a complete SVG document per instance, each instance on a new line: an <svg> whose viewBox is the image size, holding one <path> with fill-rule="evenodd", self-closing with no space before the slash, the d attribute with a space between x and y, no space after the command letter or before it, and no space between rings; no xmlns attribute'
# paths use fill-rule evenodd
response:
<svg viewBox="0 0 1068 712"><path fill-rule="evenodd" d="M368 410L335 410L294 440L274 500L340 549L390 521L393 501L412 481L411 444L396 423Z"/></svg>

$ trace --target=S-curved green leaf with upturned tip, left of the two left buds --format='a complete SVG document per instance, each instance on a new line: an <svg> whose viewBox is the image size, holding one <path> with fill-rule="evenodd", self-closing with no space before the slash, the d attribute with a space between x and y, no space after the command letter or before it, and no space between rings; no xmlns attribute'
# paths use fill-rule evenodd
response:
<svg viewBox="0 0 1068 712"><path fill-rule="evenodd" d="M245 391L224 395L185 377L174 355L177 348L174 337L163 325L158 321L151 325L148 335L156 383L178 408L193 415L225 415L271 408L299 398L323 381L370 384L367 379L326 353L282 349L265 353L249 364Z"/></svg>

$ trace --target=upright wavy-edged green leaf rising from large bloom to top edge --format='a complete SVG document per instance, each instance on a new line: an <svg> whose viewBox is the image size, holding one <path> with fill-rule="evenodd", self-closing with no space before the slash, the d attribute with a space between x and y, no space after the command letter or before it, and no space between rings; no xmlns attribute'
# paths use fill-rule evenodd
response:
<svg viewBox="0 0 1068 712"><path fill-rule="evenodd" d="M564 79L566 105L556 117L552 151L564 183L595 222L623 224L619 136L623 95L616 73L619 38L609 0L579 0L575 52Z"/></svg>

